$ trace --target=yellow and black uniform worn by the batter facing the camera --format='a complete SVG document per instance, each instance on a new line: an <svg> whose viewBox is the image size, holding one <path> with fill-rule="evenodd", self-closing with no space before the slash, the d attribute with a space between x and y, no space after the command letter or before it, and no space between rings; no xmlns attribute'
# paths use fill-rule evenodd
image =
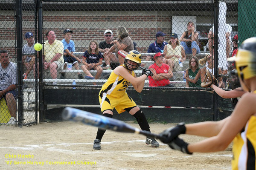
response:
<svg viewBox="0 0 256 170"><path fill-rule="evenodd" d="M124 65L121 65L124 66ZM134 71L129 71L135 76ZM99 92L99 103L101 111L113 110L116 108L118 113L124 112L125 108L137 106L132 98L126 93L127 87L131 82L127 81L121 75L111 72L108 81L103 84Z"/></svg>

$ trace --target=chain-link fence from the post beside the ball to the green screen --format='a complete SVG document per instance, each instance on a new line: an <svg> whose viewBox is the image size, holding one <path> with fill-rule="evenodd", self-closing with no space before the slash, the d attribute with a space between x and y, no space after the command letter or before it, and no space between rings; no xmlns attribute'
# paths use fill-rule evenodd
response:
<svg viewBox="0 0 256 170"><path fill-rule="evenodd" d="M218 7L211 0L44 0L45 82L57 84L55 88L101 86L124 63L117 52L127 55L137 50L142 54L141 66L153 72L145 86L201 88L206 69L214 74L209 56L214 53L214 9L218 8L218 74L225 75L238 32L237 0L220 2ZM58 45L60 41L64 46ZM163 54L155 56L157 52ZM138 77L142 69L134 72ZM226 88L227 80L218 79L218 86Z"/></svg>

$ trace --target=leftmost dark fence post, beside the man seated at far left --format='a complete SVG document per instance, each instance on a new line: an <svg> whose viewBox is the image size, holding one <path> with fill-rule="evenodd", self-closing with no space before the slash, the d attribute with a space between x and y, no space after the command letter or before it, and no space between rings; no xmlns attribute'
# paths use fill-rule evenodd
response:
<svg viewBox="0 0 256 170"><path fill-rule="evenodd" d="M17 60L17 92L18 92L18 126L23 126L23 96L22 96L22 15L21 0L15 2L16 20L16 60Z"/></svg>

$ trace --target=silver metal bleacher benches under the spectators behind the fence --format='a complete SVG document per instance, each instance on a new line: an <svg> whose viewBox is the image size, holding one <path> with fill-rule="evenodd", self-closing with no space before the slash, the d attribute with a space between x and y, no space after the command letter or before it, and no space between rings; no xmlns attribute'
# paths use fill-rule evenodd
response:
<svg viewBox="0 0 256 170"><path fill-rule="evenodd" d="M147 53L144 53L144 55ZM147 54L148 55L148 54ZM206 54L198 54L198 56L204 57ZM104 63L104 61L103 61ZM142 63L144 63L144 67L148 68L151 64L154 63L154 61L145 61L143 60ZM81 64L79 64L81 67ZM178 71L178 72L173 72L174 73L174 77L170 80L170 84L173 84L175 87L186 87L186 81L183 81L183 74L184 71L189 67L189 56L187 55L187 60L183 62L183 71ZM65 72L66 73L66 78L65 79L60 79L60 73L61 72ZM92 73L92 75L96 74L96 70L90 70L90 72ZM78 79L78 73L82 73L83 76L85 76L83 70L79 69L76 70L74 67L72 67L71 70L69 69L65 69L65 70L61 70L58 72L58 76L57 76L57 81L59 85L71 85L73 83L73 80L76 81L77 85L93 85L94 82L96 82L96 85L103 85L109 75L111 74L112 70L103 70L102 75L100 77L100 79L97 80L88 80L88 79ZM142 69L137 69L134 71L135 74L137 76L140 76L142 74ZM44 72L44 83L45 84L52 84L53 79L51 78L50 72L49 70L45 70ZM29 88L23 90L24 95L26 95L27 100L25 102L28 102L28 108L26 109L33 109L35 107L35 96L32 96L31 94L35 91L35 79L33 76L33 71L30 72L30 74L28 75L28 79L23 80L24 83L26 83ZM38 80L39 81L39 80ZM145 86L148 86L148 79L145 80ZM47 87L47 88L52 88L52 87ZM72 87L67 87L67 86L59 86L59 89L71 89Z"/></svg>

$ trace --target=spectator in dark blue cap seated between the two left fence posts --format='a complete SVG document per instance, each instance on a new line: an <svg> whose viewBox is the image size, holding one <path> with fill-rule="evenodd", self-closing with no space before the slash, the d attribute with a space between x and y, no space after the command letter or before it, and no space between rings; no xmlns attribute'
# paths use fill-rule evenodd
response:
<svg viewBox="0 0 256 170"><path fill-rule="evenodd" d="M23 46L22 52L23 52L23 65L26 67L26 72L24 73L24 79L27 79L27 75L31 70L33 69L33 66L35 65L35 40L32 32L26 32L25 34L25 40L27 43ZM26 84L23 86L23 88L26 88Z"/></svg>

